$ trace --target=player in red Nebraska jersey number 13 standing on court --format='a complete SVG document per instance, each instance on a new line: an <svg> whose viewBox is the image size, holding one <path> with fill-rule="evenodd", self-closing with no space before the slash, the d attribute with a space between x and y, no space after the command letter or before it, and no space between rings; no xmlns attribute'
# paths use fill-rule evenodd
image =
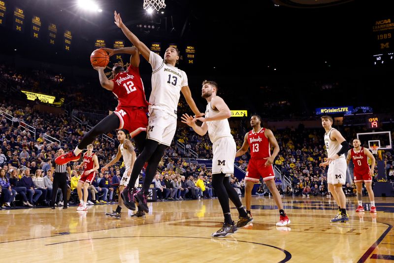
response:
<svg viewBox="0 0 394 263"><path fill-rule="evenodd" d="M245 202L246 211L250 214L252 189L255 183L260 182L263 177L264 183L268 186L269 191L274 197L275 203L279 208L280 220L276 223L277 227L285 227L290 224L290 220L283 210L282 197L276 188L274 170L272 163L279 153L279 145L274 134L269 129L261 127L261 117L253 115L250 119L252 131L245 134L244 142L235 157L241 156L248 151L250 147L250 161L248 171L245 175ZM271 145L274 150L271 155Z"/></svg>

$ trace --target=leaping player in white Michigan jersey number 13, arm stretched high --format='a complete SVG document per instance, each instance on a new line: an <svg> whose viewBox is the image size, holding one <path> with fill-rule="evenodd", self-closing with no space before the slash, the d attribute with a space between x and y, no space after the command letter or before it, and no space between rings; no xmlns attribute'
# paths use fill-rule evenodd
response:
<svg viewBox="0 0 394 263"><path fill-rule="evenodd" d="M188 77L185 71L175 66L179 60L178 49L169 47L165 50L164 58L160 57L156 53L150 51L144 43L131 33L123 24L120 15L116 11L114 15L115 24L122 29L131 43L141 52L142 57L151 64L153 70L152 93L149 98L147 140L144 150L135 160L129 184L122 192L126 207L135 210L135 197L141 208L144 209L145 212L149 212L146 203L147 195L149 194L149 186L155 176L156 169L162 159L166 146L171 144L175 135L180 93L182 92L186 102L197 117L203 116L204 114L199 112L192 98L188 86ZM146 162L148 162L148 166L146 167L145 180L142 185L142 190L137 192L134 188L134 184Z"/></svg>

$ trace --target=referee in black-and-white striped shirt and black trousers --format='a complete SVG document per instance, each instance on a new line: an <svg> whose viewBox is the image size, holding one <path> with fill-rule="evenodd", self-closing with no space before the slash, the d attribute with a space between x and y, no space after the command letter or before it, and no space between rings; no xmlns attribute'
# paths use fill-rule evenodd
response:
<svg viewBox="0 0 394 263"><path fill-rule="evenodd" d="M58 156L63 155L65 152L62 148L58 150ZM63 209L67 209L67 172L70 172L70 165L63 164L58 165L55 162L52 163L52 174L53 174L53 190L51 207L55 209L56 196L58 194L58 188L62 189L63 193Z"/></svg>

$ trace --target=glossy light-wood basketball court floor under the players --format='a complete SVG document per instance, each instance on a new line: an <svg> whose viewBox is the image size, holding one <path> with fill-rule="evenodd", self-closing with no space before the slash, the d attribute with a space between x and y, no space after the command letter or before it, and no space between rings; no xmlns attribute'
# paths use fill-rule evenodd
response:
<svg viewBox="0 0 394 263"><path fill-rule="evenodd" d="M104 215L115 204L81 212L1 210L0 261L394 262L393 198L375 202L377 214L356 213L357 200L348 198L349 223L331 224L337 211L330 198L286 197L292 223L278 228L273 199L253 197L253 226L226 238L210 237L223 220L218 199L149 203L145 218L131 218L124 208L121 220Z"/></svg>

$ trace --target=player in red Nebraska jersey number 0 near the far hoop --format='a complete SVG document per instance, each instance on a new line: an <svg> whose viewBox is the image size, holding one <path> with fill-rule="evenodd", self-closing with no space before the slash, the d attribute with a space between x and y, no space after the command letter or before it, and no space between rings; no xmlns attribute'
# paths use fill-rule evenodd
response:
<svg viewBox="0 0 394 263"><path fill-rule="evenodd" d="M365 211L362 206L362 183L364 183L369 200L371 201L369 211L371 213L376 213L375 196L372 190L372 175L375 168L375 157L373 157L373 154L368 149L361 147L361 141L359 139L353 140L353 146L354 148L348 151L346 161L347 164L349 164L350 160L352 160L354 164L354 182L356 184L357 200L359 202L356 212ZM369 168L368 165L368 158L371 159L371 168Z"/></svg>

